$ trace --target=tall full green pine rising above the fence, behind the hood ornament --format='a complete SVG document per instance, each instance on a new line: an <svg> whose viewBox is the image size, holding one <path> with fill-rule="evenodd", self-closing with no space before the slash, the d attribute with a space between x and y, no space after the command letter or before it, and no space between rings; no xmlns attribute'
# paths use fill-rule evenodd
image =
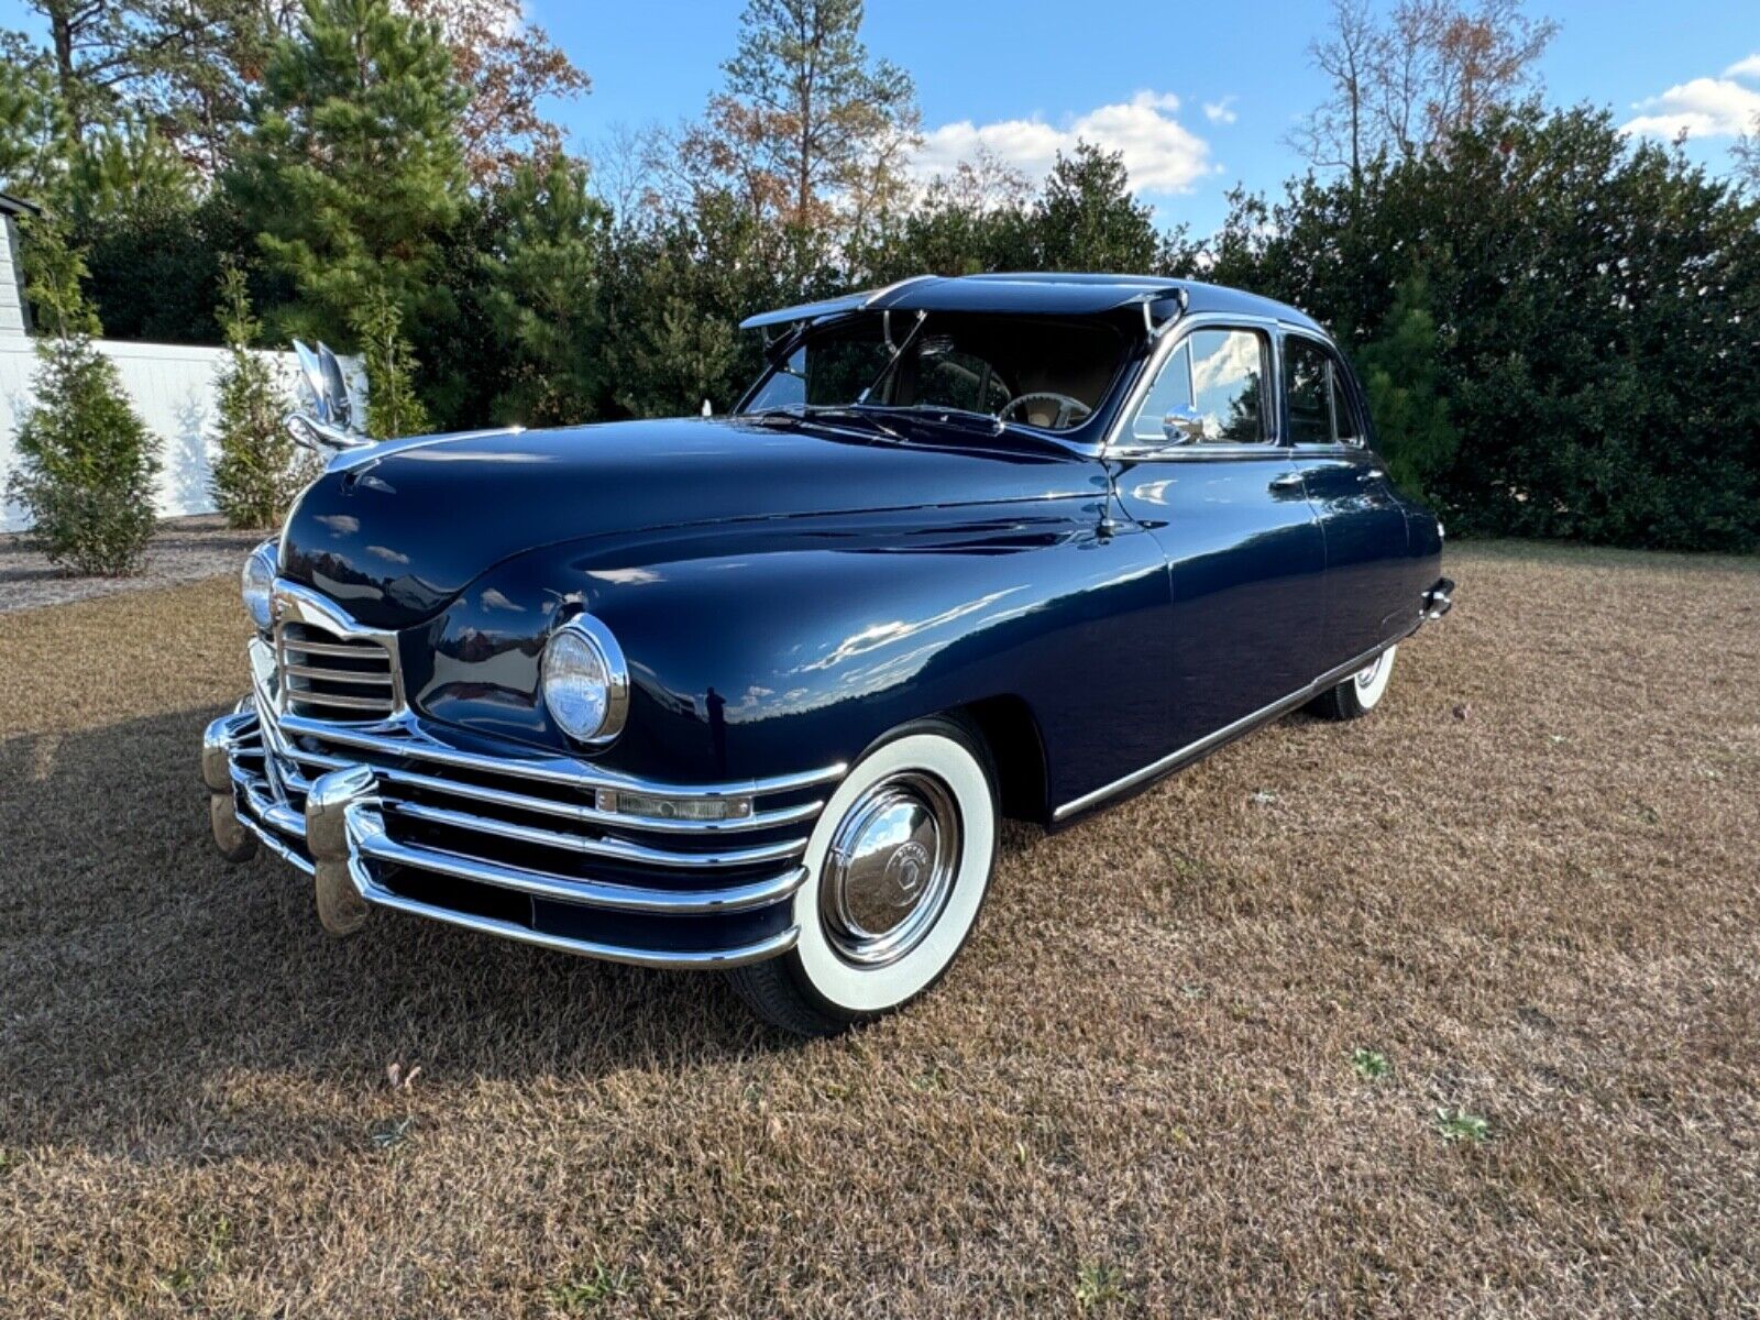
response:
<svg viewBox="0 0 1760 1320"><path fill-rule="evenodd" d="M299 294L276 329L347 341L373 290L405 319L451 315L440 239L465 199L465 100L435 25L389 0L306 0L229 180Z"/></svg>

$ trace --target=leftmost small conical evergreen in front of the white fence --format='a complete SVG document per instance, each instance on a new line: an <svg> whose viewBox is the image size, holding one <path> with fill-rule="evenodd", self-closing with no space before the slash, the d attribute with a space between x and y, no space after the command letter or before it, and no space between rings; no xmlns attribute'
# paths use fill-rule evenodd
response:
<svg viewBox="0 0 1760 1320"><path fill-rule="evenodd" d="M84 262L56 224L26 225L25 269L44 334L7 495L30 514L32 540L51 563L134 572L153 535L157 442L92 343L100 329L79 289Z"/></svg>

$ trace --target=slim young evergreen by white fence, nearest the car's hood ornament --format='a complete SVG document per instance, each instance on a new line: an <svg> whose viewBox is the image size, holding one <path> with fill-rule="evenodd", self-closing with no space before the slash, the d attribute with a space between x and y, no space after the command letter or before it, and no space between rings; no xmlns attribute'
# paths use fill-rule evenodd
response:
<svg viewBox="0 0 1760 1320"><path fill-rule="evenodd" d="M209 489L231 526L276 526L312 479L313 465L287 431L287 391L275 370L250 345L260 324L250 312L245 273L229 266L220 276L216 312L227 341L220 371L220 458Z"/></svg>

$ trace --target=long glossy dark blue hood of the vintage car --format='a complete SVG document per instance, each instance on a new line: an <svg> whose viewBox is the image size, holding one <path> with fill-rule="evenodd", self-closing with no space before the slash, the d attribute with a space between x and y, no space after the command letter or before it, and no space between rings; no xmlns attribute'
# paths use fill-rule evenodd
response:
<svg viewBox="0 0 1760 1320"><path fill-rule="evenodd" d="M1105 489L1098 463L1030 436L896 429L901 438L727 417L391 442L345 456L306 489L280 570L368 627L403 628L540 546Z"/></svg>

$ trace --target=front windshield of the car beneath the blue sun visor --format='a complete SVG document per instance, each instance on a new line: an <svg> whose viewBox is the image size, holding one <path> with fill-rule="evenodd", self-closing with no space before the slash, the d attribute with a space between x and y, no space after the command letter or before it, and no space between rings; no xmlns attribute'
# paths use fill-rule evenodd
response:
<svg viewBox="0 0 1760 1320"><path fill-rule="evenodd" d="M878 313L810 333L776 363L744 412L899 408L957 412L1049 431L1081 426L1112 387L1125 336L1102 320Z"/></svg>

